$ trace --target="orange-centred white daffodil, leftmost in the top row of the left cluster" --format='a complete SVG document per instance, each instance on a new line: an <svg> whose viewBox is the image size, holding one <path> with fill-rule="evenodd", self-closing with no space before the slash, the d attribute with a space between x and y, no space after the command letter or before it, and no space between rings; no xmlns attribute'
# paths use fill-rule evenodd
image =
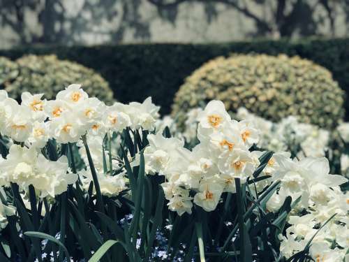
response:
<svg viewBox="0 0 349 262"><path fill-rule="evenodd" d="M43 95L44 94L33 95L29 92L24 92L21 96L21 105L29 108L32 112L33 119L40 122L46 119L44 111L46 100L42 100Z"/></svg>

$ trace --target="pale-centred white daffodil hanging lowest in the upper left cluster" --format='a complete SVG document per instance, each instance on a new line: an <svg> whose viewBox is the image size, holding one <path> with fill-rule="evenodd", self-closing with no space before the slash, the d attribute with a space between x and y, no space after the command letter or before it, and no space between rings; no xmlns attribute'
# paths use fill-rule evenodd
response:
<svg viewBox="0 0 349 262"><path fill-rule="evenodd" d="M28 138L31 147L43 148L50 138L50 122L34 122L33 130Z"/></svg>

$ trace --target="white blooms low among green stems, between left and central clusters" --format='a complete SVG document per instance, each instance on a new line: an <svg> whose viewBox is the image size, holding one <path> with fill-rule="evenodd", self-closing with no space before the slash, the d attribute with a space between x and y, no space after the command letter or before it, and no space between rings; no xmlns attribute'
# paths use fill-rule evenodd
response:
<svg viewBox="0 0 349 262"><path fill-rule="evenodd" d="M87 191L89 185L93 182L91 170L80 170L80 178L82 180L82 187ZM97 172L99 187L103 196L118 196L121 191L127 189L126 182L128 179L125 177L125 173L119 173L117 175L107 175L103 172ZM94 187L94 194L96 194L96 188Z"/></svg>

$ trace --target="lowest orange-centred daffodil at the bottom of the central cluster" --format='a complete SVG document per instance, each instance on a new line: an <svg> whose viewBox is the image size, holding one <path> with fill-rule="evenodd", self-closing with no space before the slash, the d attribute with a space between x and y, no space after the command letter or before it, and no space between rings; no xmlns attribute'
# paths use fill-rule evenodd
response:
<svg viewBox="0 0 349 262"><path fill-rule="evenodd" d="M216 209L218 201L223 193L221 184L215 183L212 179L200 182L199 192L194 196L194 203L210 212Z"/></svg>

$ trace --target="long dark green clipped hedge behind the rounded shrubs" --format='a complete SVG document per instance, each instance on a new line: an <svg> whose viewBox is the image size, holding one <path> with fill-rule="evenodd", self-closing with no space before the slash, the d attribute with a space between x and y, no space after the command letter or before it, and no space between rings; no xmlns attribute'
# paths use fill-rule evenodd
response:
<svg viewBox="0 0 349 262"><path fill-rule="evenodd" d="M23 54L57 54L94 68L110 82L121 102L142 101L152 96L163 113L170 112L174 93L205 61L231 52L299 55L332 71L334 79L349 92L349 39L298 42L253 41L222 44L140 44L94 47L35 46L0 50L0 55L16 59ZM349 105L346 103L347 112ZM347 113L348 115L348 113Z"/></svg>

